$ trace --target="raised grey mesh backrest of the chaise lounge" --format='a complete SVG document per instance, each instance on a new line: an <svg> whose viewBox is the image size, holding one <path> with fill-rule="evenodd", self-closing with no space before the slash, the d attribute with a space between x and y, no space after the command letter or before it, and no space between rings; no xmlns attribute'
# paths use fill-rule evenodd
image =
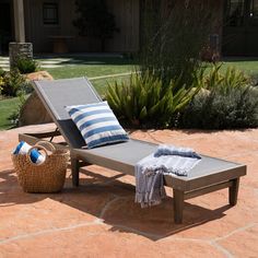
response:
<svg viewBox="0 0 258 258"><path fill-rule="evenodd" d="M34 89L71 148L81 148L85 142L64 106L101 102L86 78L35 81Z"/></svg>

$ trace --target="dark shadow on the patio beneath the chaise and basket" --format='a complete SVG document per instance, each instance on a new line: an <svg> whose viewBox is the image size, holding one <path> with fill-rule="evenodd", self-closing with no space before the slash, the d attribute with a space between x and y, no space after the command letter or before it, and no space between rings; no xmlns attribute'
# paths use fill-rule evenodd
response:
<svg viewBox="0 0 258 258"><path fill-rule="evenodd" d="M104 169L104 175L101 175L101 169L98 168L97 173L94 173L91 167L90 169L83 168L80 173L83 178L80 179L78 188L71 187L71 177L67 177L64 189L60 194L25 194L17 186L14 172L2 171L0 173L0 206L30 204L50 198L99 219L103 223L112 226L109 228L112 232L130 232L152 241L159 241L218 220L224 216L223 212L231 208L226 204L210 210L186 202L184 223L175 224L171 189L166 189L169 196L162 204L141 209L139 204L134 203L134 186L119 180L125 175L114 175L114 172L107 169Z"/></svg>

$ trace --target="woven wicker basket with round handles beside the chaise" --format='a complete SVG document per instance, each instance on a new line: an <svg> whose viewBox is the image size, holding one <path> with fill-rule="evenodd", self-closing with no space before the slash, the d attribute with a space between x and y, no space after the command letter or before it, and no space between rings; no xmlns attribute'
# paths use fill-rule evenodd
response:
<svg viewBox="0 0 258 258"><path fill-rule="evenodd" d="M50 154L44 145L48 145ZM46 159L42 164L31 161L33 149L45 152ZM39 141L32 146L26 155L12 154L17 180L25 192L57 192L63 187L69 160L68 150L57 150L50 142Z"/></svg>

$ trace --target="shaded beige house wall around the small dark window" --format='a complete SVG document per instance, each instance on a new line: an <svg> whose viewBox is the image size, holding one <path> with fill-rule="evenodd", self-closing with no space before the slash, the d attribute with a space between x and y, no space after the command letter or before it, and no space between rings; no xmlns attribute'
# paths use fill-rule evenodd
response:
<svg viewBox="0 0 258 258"><path fill-rule="evenodd" d="M59 3L59 24L43 23L43 3ZM139 49L139 0L108 0L109 10L116 17L120 32L107 40L106 51L131 52ZM75 19L73 0L24 0L26 42L32 42L35 52L51 52L51 36L72 36L68 39L69 51L99 51L99 43L93 38L78 36L72 25Z"/></svg>

